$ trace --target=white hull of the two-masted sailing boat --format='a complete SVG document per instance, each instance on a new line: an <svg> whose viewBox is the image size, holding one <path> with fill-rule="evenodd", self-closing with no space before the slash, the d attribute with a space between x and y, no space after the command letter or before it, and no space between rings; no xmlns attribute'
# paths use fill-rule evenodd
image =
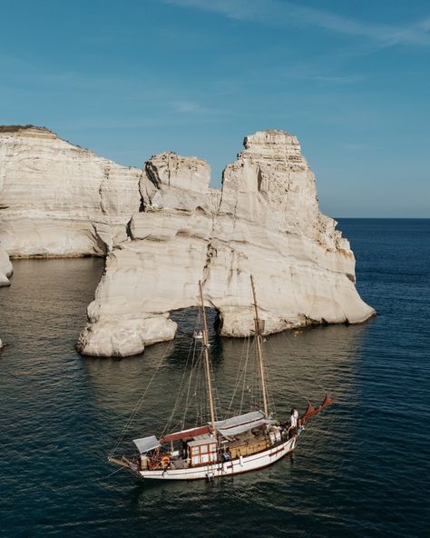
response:
<svg viewBox="0 0 430 538"><path fill-rule="evenodd" d="M166 469L154 471L139 471L135 465L129 463L131 470L144 479L151 480L199 480L202 478L212 479L234 474L248 473L262 467L267 467L278 462L282 457L291 453L296 447L297 437L293 437L284 443L270 447L264 452L241 456L239 459L223 463L210 463L199 467L187 469Z"/></svg>

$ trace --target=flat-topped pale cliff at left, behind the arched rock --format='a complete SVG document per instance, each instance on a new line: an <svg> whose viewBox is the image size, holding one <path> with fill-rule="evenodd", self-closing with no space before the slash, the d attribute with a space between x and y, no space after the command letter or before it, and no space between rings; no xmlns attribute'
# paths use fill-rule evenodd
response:
<svg viewBox="0 0 430 538"><path fill-rule="evenodd" d="M12 257L104 255L139 211L142 170L43 127L0 128L0 243Z"/></svg>

